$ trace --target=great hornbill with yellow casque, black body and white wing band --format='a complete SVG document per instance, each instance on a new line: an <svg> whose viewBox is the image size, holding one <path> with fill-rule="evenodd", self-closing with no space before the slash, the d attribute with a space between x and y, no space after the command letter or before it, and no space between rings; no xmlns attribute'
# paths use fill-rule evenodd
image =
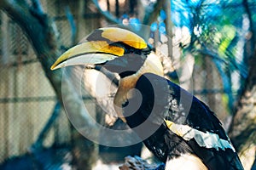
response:
<svg viewBox="0 0 256 170"><path fill-rule="evenodd" d="M154 50L137 34L97 29L51 69L67 65L102 65L119 74L115 111L166 168L243 169L218 118L201 100L162 77Z"/></svg>

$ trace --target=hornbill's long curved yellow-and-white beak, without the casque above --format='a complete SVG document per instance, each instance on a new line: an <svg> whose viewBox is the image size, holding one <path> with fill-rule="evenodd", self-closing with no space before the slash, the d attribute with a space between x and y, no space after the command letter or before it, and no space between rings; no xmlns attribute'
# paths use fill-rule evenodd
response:
<svg viewBox="0 0 256 170"><path fill-rule="evenodd" d="M106 41L83 42L68 49L50 69L55 70L68 65L102 64L124 54L124 48L111 46Z"/></svg>

